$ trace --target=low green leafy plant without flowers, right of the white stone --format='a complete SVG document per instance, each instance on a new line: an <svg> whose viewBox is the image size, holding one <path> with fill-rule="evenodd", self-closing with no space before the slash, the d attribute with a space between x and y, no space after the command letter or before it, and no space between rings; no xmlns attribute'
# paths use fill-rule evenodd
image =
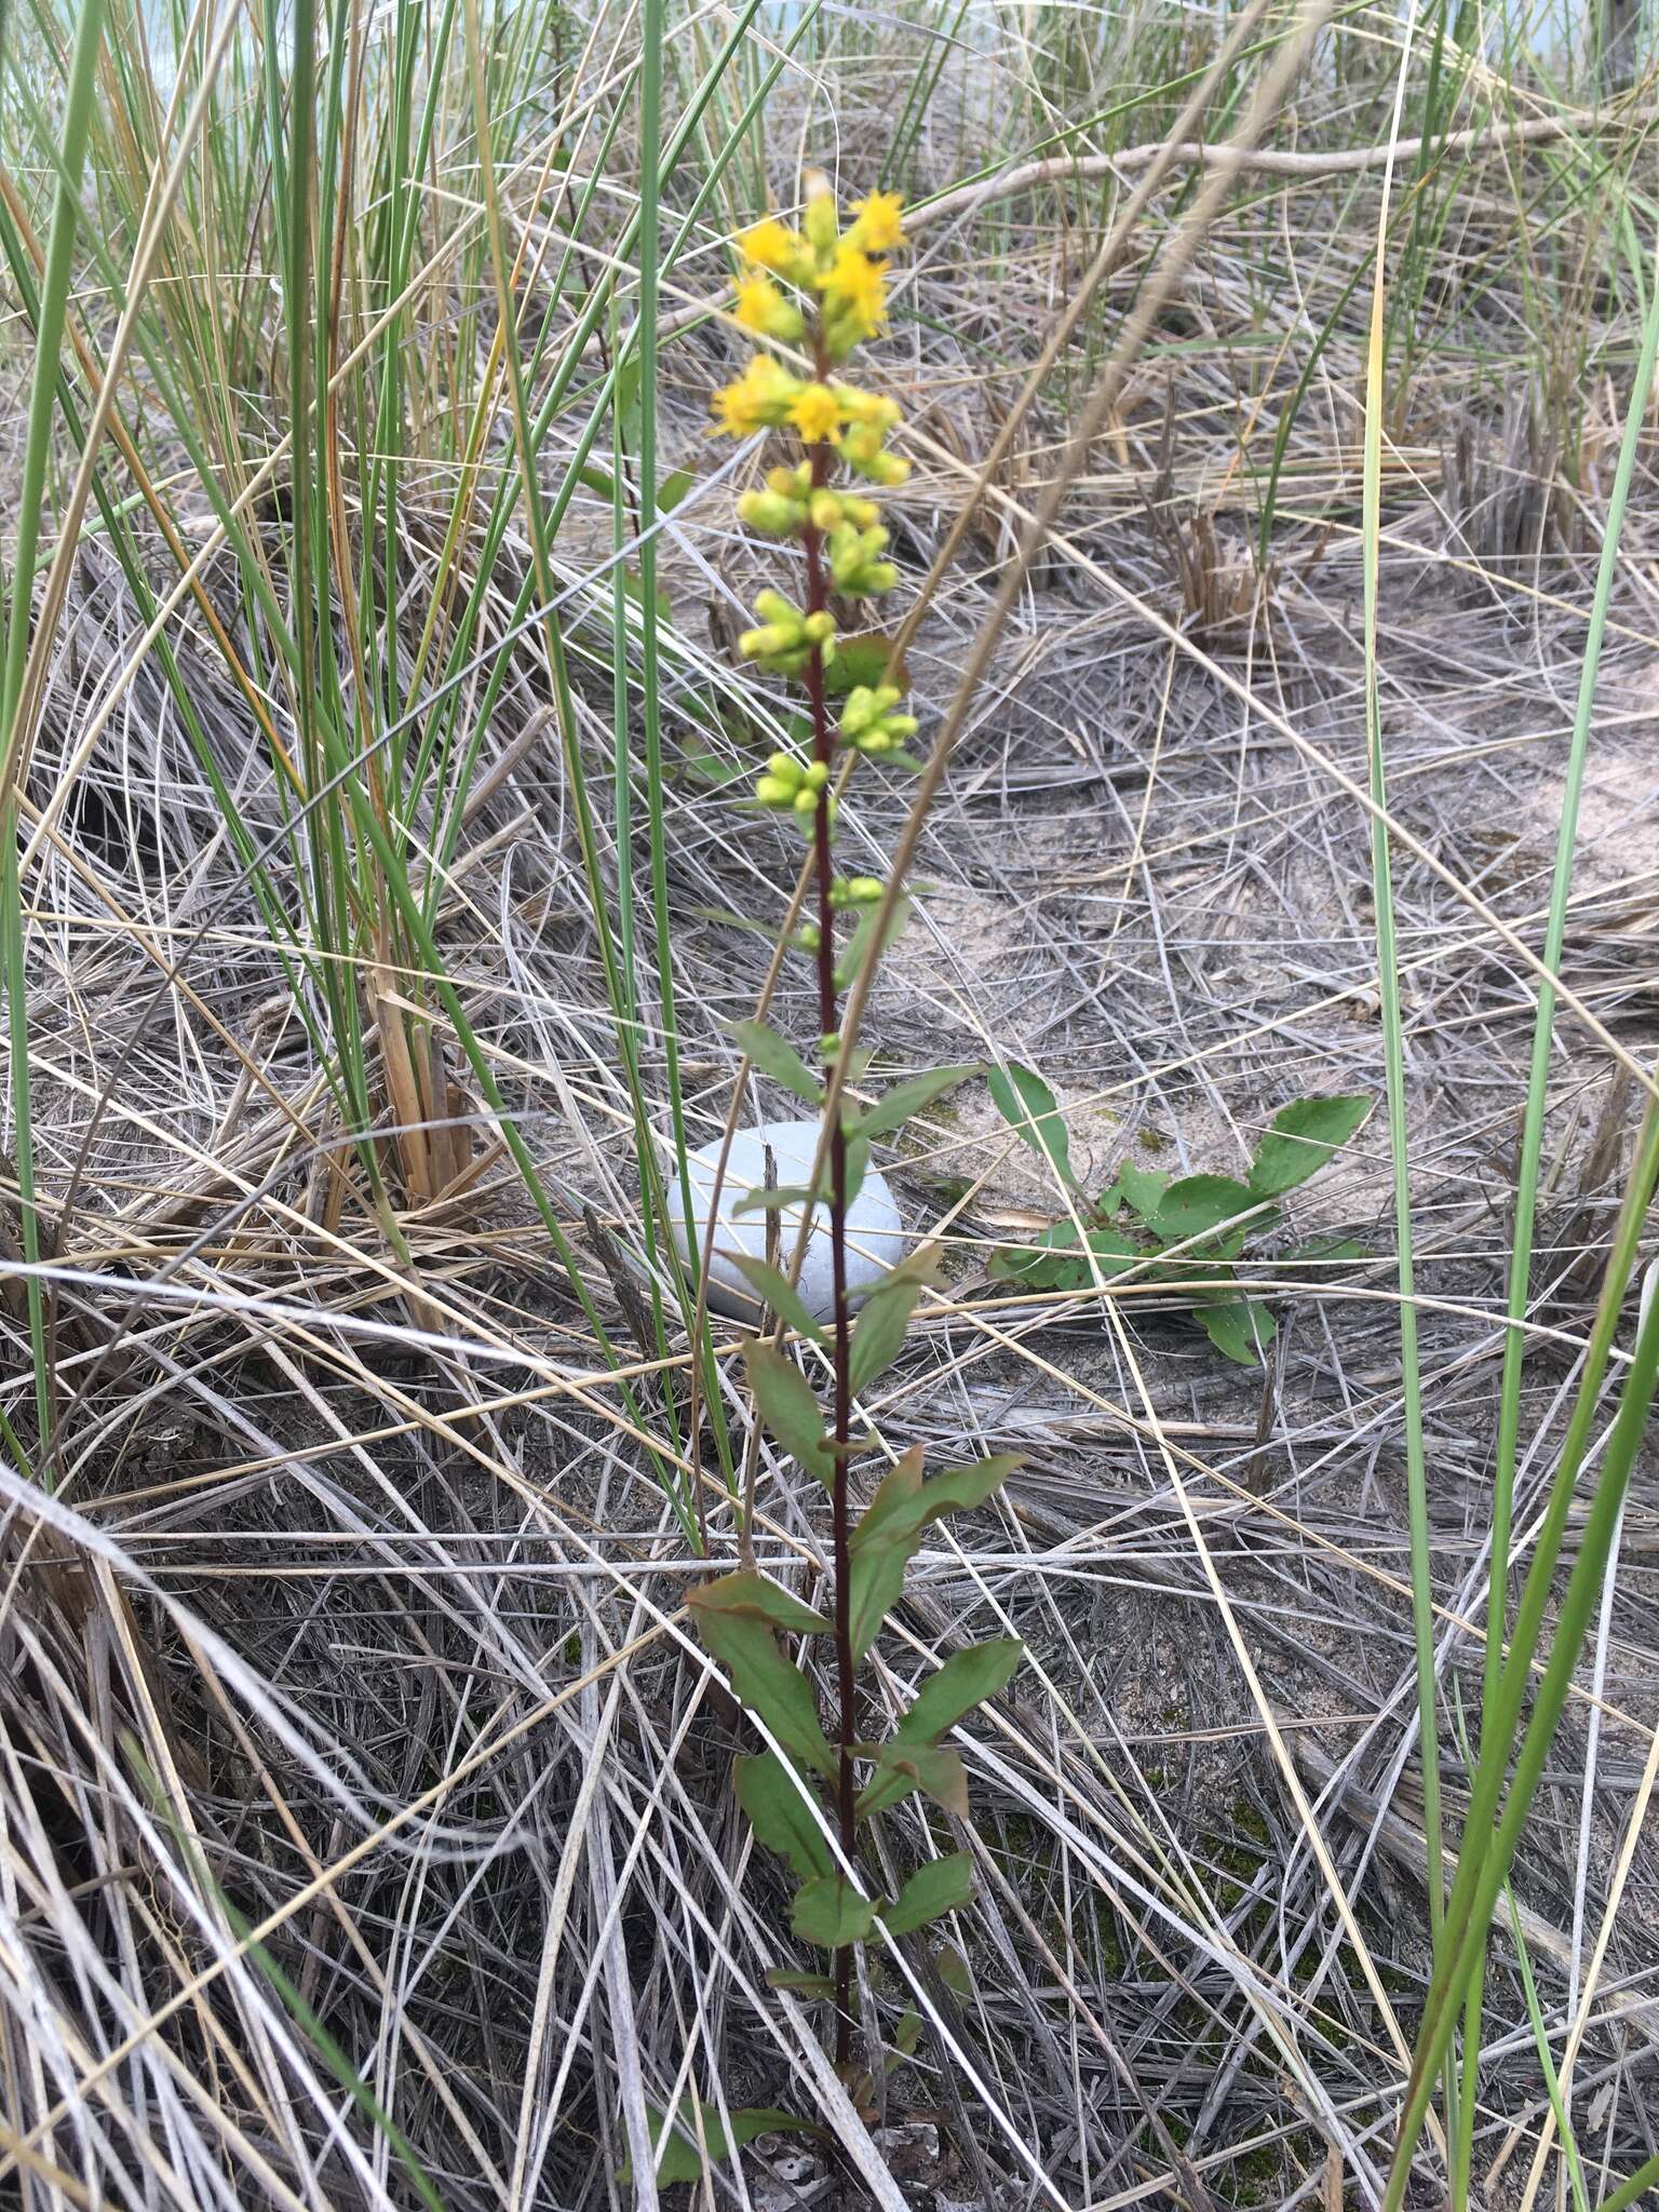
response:
<svg viewBox="0 0 1659 2212"><path fill-rule="evenodd" d="M1033 1243L995 1252L993 1279L1031 1290L1088 1290L1099 1276L1135 1270L1144 1283L1179 1283L1203 1334L1241 1367L1261 1360L1279 1327L1261 1298L1239 1290L1243 1248L1276 1228L1274 1199L1323 1168L1371 1110L1363 1097L1294 1099L1272 1117L1245 1181L1172 1177L1126 1159L1106 1190L1088 1199L1073 1175L1066 1124L1044 1079L1009 1064L991 1075L991 1097L1002 1119L1062 1179L1077 1214L1055 1221ZM1356 1252L1349 1243L1323 1243L1296 1256L1354 1259Z"/></svg>

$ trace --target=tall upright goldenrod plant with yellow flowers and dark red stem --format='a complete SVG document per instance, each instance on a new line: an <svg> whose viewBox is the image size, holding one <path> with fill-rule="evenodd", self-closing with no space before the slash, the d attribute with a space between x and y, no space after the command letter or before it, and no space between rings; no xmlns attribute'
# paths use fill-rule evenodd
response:
<svg viewBox="0 0 1659 2212"><path fill-rule="evenodd" d="M847 383L841 365L883 327L883 257L900 243L894 195L872 192L843 228L827 181L810 177L801 230L768 219L743 234L737 294L739 323L765 345L805 347L810 374L796 374L787 352L785 358L757 352L743 374L714 396L719 427L732 436L768 431L796 440L796 453L772 467L763 489L745 491L737 504L752 531L799 549L803 588L794 599L779 591L761 593L754 608L759 622L743 635L741 653L765 675L805 692L801 750L772 754L754 783L752 805L787 814L810 845L814 918L790 942L816 973L818 1044L812 1057L818 1066L765 1024L739 1024L737 1037L750 1060L818 1113L825 1113L823 1071L836 1064L841 1051L841 993L883 951L874 940L874 909L885 885L874 876L838 876L832 865L836 794L860 763L916 765L905 750L916 721L900 712L885 650L869 670L878 681L836 686L834 679L847 608L885 595L896 582L878 509L865 491L849 489L847 478L869 487L905 482L907 465L887 449L898 407ZM856 922L838 949L838 925L849 918ZM739 1761L739 1801L754 1834L799 1880L792 1907L796 1938L827 1951L832 1962L830 1973L790 1971L774 1975L774 1984L834 2006L834 2059L847 2081L856 2079L854 1947L878 1929L889 1938L907 1936L967 1905L973 1893L971 1854L951 1849L925 1858L898 1896L885 1898L865 1878L858 1832L918 1792L942 1814L956 1820L967 1816L967 1776L945 1739L982 1699L1002 1690L1022 1650L1018 1639L1000 1637L953 1652L922 1683L891 1734L869 1741L858 1674L902 1593L909 1559L936 1520L982 1506L1018 1464L989 1458L925 1478L916 1449L887 1467L863 1513L854 1511L863 1486L860 1462L874 1444L854 1429L854 1402L898 1354L931 1281L933 1254L916 1252L887 1272L854 1321L847 1208L858 1194L872 1144L891 1137L969 1073L933 1068L896 1084L863 1110L841 1106L823 1130L816 1188L757 1190L745 1201L765 1208L810 1201L830 1217L834 1312L823 1325L794 1287L805 1232L796 1270L745 1263L763 1305L781 1325L816 1343L834 1376L825 1409L779 1340L752 1338L745 1345L761 1422L825 1489L830 1573L823 1608L752 1566L690 1593L699 1637L770 1739L765 1750ZM796 1639L814 1637L832 1650L830 1730L814 1681L790 1650ZM686 2130L684 2117L679 2128Z"/></svg>

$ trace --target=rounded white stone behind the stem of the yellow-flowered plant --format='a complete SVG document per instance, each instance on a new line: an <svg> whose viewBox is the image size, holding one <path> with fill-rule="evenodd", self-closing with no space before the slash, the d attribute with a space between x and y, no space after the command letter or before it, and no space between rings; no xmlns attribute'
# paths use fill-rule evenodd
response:
<svg viewBox="0 0 1659 2212"><path fill-rule="evenodd" d="M732 1321L759 1321L759 1305L748 1279L732 1263L732 1252L748 1259L765 1259L765 1214L761 1210L739 1214L734 1208L750 1190L765 1188L765 1150L772 1148L774 1179L779 1188L812 1181L812 1161L818 1155L816 1121L763 1121L759 1128L741 1128L732 1137L732 1152L721 1179L719 1214L714 1219L714 1252L708 1270L708 1303L717 1314ZM719 1168L721 1139L706 1144L686 1161L692 1199L692 1239L697 1252L703 1250L708 1228L708 1201L714 1192L714 1170ZM686 1252L686 1214L681 1206L679 1177L672 1161L664 1161L664 1194L675 1243ZM779 1208L779 1265L790 1272L794 1243L801 1234L803 1203ZM856 1303L896 1267L905 1256L905 1225L898 1219L887 1179L876 1168L865 1170L865 1181L847 1212L847 1294ZM801 1259L801 1296L814 1321L830 1321L836 1310L834 1279L830 1267L830 1219L827 1208L812 1208L812 1234Z"/></svg>

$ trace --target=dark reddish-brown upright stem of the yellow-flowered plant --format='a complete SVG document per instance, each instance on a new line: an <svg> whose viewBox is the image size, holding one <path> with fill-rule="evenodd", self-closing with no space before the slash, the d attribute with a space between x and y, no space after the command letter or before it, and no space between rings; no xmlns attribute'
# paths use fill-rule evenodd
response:
<svg viewBox="0 0 1659 2212"><path fill-rule="evenodd" d="M818 358L818 376L827 376L827 361ZM825 478L825 465L830 449L816 445L812 449L812 482L814 487ZM830 604L830 584L823 568L823 540L818 529L807 522L805 533L805 555L807 555L807 613L816 615ZM814 646L807 659L807 699L812 703L812 757L823 761L825 768L834 768L834 730L830 728L830 701L823 681L823 655ZM830 885L834 880L830 860L830 794L818 794L818 810L812 816L812 858L814 874L818 878L818 1029L825 1037L836 1031L836 909L830 905ZM832 1498L832 1551L834 1551L834 1639L836 1639L836 1688L838 1688L838 1714L836 1714L836 1829L841 1836L843 1858L852 1858L856 1820L854 1820L854 1783L852 1783L852 1745L858 1739L858 1710L856 1710L856 1686L854 1686L854 1657L852 1657L852 1559L849 1559L849 1511L847 1511L847 1442L852 1438L852 1316L847 1312L847 1137L841 1128L841 1115L836 1115L834 1128L830 1130L830 1265L836 1294L834 1312L834 1367L836 1367L836 1405L834 1405L834 1475L830 1484ZM845 2075L852 2066L852 1947L843 1944L836 1951L836 2068Z"/></svg>

